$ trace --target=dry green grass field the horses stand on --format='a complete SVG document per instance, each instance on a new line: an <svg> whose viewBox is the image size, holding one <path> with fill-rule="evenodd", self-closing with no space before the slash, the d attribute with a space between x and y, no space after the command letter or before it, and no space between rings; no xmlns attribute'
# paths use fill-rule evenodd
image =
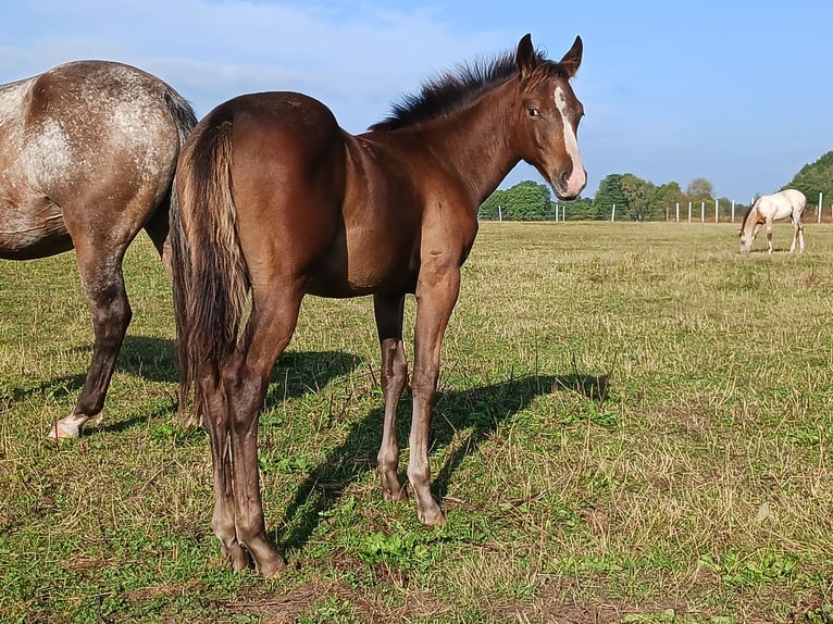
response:
<svg viewBox="0 0 833 624"><path fill-rule="evenodd" d="M833 622L833 226L745 258L736 227L482 225L437 529L382 500L371 301L309 298L260 426L274 581L221 565L149 242L105 419L59 446L90 358L74 258L0 264L0 621Z"/></svg>

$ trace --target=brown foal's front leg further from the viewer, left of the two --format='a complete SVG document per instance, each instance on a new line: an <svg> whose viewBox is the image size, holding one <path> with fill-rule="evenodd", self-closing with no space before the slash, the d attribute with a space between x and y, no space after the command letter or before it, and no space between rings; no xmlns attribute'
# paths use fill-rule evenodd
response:
<svg viewBox="0 0 833 624"><path fill-rule="evenodd" d="M408 384L408 361L402 344L402 314L405 296L373 298L373 312L382 348L382 395L385 399L385 424L378 447L378 474L385 500L398 500L405 496L399 485L399 444L396 439L396 410L399 398Z"/></svg>

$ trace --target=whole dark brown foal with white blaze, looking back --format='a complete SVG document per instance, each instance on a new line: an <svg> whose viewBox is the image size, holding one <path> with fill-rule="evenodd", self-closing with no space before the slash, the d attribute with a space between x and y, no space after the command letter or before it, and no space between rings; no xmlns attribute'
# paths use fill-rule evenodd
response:
<svg viewBox="0 0 833 624"><path fill-rule="evenodd" d="M249 554L265 576L285 565L265 534L258 419L307 294L373 295L387 500L405 496L396 414L408 382L405 298L415 294L408 479L419 520L445 522L428 487L431 409L477 208L521 160L561 199L584 188L583 108L570 85L581 59L581 38L552 62L526 35L513 53L426 83L358 136L293 92L235 98L197 125L179 157L172 212L181 391L194 388L195 416L209 433L212 528L235 570Z"/></svg>

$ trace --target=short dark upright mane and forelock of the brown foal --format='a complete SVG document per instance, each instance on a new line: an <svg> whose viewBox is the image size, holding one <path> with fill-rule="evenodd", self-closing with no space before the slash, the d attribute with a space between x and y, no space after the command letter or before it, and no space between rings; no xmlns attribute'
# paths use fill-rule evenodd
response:
<svg viewBox="0 0 833 624"><path fill-rule="evenodd" d="M563 73L561 65L546 60L543 52L536 52L536 74L540 73L542 77ZM369 129L395 130L435 120L474 101L485 91L517 75L514 52L503 52L490 62L478 60L474 63L461 63L453 70L423 83L419 93L402 96L393 104L390 114Z"/></svg>

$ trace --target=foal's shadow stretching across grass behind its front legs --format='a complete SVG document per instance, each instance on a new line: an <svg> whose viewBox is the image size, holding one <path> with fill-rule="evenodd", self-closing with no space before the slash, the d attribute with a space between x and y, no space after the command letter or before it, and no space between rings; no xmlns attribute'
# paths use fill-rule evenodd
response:
<svg viewBox="0 0 833 624"><path fill-rule="evenodd" d="M467 436L455 441L457 450L432 476L435 499L442 503L462 461L476 453L500 423L510 420L536 398L570 390L601 403L607 399L608 384L607 375L526 375L465 390L438 391L432 412L432 448L447 447L460 430L467 432ZM279 551L291 556L293 551L302 548L349 486L368 471L376 470L375 457L382 440L383 420L384 407L381 405L355 424L345 441L310 471L286 508L285 528L278 529L277 535L273 533ZM400 449L406 447L402 440L408 437L410 424L411 394L406 391L399 402L397 419ZM370 439L373 442L369 447ZM406 467L400 465L399 469L401 484L408 481ZM377 496L382 497L381 486ZM415 515L415 509L413 513Z"/></svg>

